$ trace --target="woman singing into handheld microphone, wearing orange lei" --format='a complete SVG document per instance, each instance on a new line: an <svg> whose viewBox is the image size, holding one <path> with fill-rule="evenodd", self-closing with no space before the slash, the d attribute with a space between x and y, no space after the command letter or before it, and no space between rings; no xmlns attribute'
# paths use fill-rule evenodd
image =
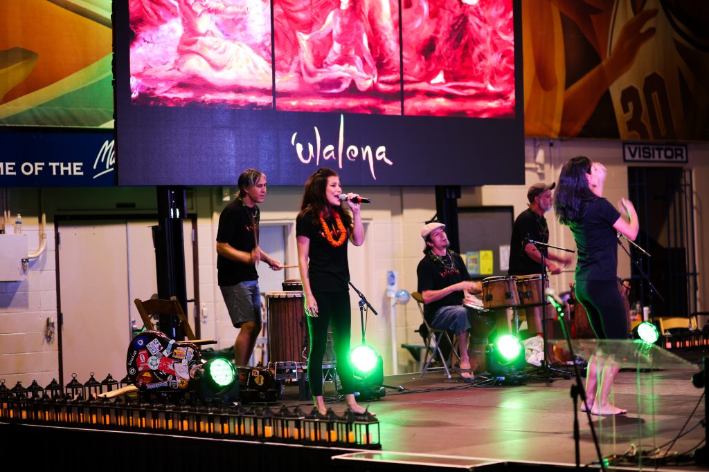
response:
<svg viewBox="0 0 709 472"><path fill-rule="evenodd" d="M342 382L347 406L355 414L365 409L354 400L354 375L350 361L350 267L347 239L362 246L364 228L357 197L347 194L352 216L340 202L340 178L329 168L320 168L308 178L301 211L296 220L298 267L303 281L311 352L308 356L308 383L313 401L325 414L323 401L323 355L328 340L328 324L333 329L337 374Z"/></svg>

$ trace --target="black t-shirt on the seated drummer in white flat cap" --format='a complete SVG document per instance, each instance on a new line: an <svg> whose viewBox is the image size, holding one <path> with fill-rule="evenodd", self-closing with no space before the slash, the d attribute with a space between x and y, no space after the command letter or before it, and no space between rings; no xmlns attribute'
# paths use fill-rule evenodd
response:
<svg viewBox="0 0 709 472"><path fill-rule="evenodd" d="M423 256L418 267L416 267L416 275L418 275L418 292L422 293L425 290L440 290L445 289L452 284L457 284L463 280L470 280L470 274L465 267L462 258L456 253L450 252L452 256L452 264L446 267L445 264L438 263L433 260L430 255ZM447 256L442 259L446 260ZM440 300L427 304L423 308L423 314L426 320L430 323L433 315L442 306L453 306L463 303L465 294L462 290L448 294Z"/></svg>

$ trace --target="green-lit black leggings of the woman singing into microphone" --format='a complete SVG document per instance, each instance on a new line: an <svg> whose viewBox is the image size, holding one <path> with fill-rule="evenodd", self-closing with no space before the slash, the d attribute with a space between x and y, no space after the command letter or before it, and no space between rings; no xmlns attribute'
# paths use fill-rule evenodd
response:
<svg viewBox="0 0 709 472"><path fill-rule="evenodd" d="M337 375L342 393L354 393L354 375L350 359L350 292L315 292L318 317L308 316L311 352L308 356L308 384L313 396L323 395L323 356L328 345L328 325L333 328L337 357Z"/></svg>

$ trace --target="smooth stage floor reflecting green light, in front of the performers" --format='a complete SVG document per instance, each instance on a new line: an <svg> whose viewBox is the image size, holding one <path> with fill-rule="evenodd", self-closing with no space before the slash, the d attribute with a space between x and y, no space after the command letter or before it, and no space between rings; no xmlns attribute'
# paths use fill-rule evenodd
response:
<svg viewBox="0 0 709 472"><path fill-rule="evenodd" d="M696 448L705 439L705 428L700 424L705 408L703 389L691 384L693 373L621 371L615 382L615 404L627 408L627 415L592 417L603 456L625 454L632 447L651 451L664 445L660 456L668 450L672 455ZM388 390L378 401L360 403L379 418L385 452L436 455L440 464L461 457L574 464L573 379L548 383L545 378L530 376L520 386L467 385L435 371L423 379L420 374L389 376L384 383L406 390ZM333 385L326 382L325 396L328 394L336 395ZM281 403L301 405L303 410L312 407L312 403L298 401L294 386L284 389ZM341 399L330 406L336 413L345 410ZM579 424L584 465L597 461L598 456L585 414L579 413ZM685 434L676 439L682 430ZM625 465L638 468L637 464ZM654 470L654 465L643 459L642 468ZM665 464L657 470L705 468L691 463Z"/></svg>

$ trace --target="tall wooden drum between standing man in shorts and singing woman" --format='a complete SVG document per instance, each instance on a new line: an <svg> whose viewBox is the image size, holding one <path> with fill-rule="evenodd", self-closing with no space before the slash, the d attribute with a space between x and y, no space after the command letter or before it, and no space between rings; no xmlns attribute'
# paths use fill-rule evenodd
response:
<svg viewBox="0 0 709 472"><path fill-rule="evenodd" d="M310 340L303 292L268 292L266 309L269 362L306 362Z"/></svg>

